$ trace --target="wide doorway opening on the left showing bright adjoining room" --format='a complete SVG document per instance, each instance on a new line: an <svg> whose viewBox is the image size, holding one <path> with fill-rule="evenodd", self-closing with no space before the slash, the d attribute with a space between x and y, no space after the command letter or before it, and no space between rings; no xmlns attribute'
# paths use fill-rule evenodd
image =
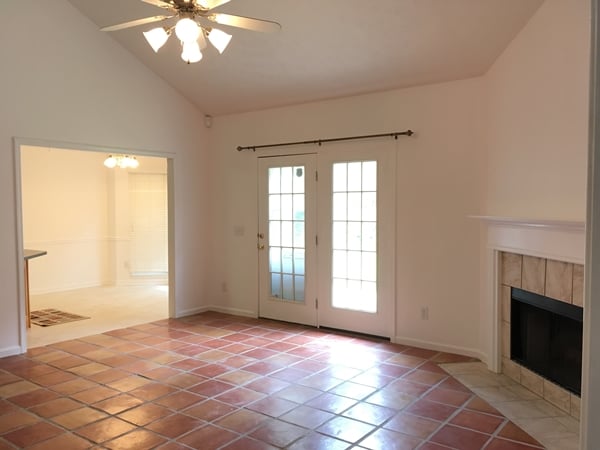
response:
<svg viewBox="0 0 600 450"><path fill-rule="evenodd" d="M108 156L85 147L17 145L19 242L46 252L28 261L26 306L84 317L30 327L23 317L24 350L174 311L172 160L136 155L137 168L109 168Z"/></svg>

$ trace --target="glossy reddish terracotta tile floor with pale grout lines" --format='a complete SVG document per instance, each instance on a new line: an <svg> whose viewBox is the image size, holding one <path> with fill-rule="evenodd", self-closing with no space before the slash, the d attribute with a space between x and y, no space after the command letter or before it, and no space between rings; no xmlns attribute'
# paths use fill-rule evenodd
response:
<svg viewBox="0 0 600 450"><path fill-rule="evenodd" d="M542 448L458 355L206 313L0 359L0 450Z"/></svg>

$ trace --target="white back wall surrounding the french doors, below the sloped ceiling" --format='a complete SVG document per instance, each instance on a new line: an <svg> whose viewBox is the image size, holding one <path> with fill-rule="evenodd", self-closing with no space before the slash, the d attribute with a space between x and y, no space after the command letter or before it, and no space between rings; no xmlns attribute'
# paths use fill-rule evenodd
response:
<svg viewBox="0 0 600 450"><path fill-rule="evenodd" d="M417 134L398 141L395 337L476 353L479 225L467 215L481 201L482 87L472 79L216 118L214 304L248 314L258 306L258 155L238 145L411 128Z"/></svg>

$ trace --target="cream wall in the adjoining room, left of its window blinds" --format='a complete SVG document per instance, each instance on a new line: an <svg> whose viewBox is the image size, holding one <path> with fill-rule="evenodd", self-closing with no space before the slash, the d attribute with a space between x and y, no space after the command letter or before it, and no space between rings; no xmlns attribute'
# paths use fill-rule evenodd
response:
<svg viewBox="0 0 600 450"><path fill-rule="evenodd" d="M48 252L29 263L31 294L105 284L110 264L105 155L21 150L23 244Z"/></svg>

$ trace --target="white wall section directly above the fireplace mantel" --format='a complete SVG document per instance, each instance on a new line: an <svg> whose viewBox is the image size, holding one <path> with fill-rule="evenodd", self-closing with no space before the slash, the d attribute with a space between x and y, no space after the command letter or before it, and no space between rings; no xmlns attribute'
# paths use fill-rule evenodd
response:
<svg viewBox="0 0 600 450"><path fill-rule="evenodd" d="M588 0L546 0L486 75L488 214L585 220Z"/></svg>

